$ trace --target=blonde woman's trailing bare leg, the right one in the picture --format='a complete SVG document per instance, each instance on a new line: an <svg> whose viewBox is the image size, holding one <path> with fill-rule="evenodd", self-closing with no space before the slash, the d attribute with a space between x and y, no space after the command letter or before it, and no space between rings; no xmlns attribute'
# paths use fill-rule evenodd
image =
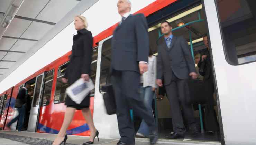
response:
<svg viewBox="0 0 256 145"><path fill-rule="evenodd" d="M91 110L89 108L83 108L82 113L83 113L83 116L84 116L84 118L89 126L90 132L91 132L91 137L90 137L89 141L93 142L93 139L96 135L96 128L93 123Z"/></svg>

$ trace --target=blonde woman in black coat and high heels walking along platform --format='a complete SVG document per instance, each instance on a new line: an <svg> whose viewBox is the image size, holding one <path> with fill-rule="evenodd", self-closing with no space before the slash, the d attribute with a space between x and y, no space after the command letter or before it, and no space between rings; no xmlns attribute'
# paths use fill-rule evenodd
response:
<svg viewBox="0 0 256 145"><path fill-rule="evenodd" d="M76 16L74 19L75 29L77 34L73 36L72 56L70 58L69 65L62 78L63 83L73 84L76 80L83 78L84 81L89 81L91 73L91 60L92 60L92 33L87 30L88 23L84 16ZM90 106L90 94L84 98L80 104L76 104L71 100L70 96L67 95L65 105L67 109L63 120L62 127L58 133L57 138L53 144L66 143L67 140L67 128L70 125L74 116L75 110L82 110L82 114L89 126L91 136L88 142L83 144L93 144L95 137L99 136L99 132L96 130ZM98 138L99 141L99 138Z"/></svg>

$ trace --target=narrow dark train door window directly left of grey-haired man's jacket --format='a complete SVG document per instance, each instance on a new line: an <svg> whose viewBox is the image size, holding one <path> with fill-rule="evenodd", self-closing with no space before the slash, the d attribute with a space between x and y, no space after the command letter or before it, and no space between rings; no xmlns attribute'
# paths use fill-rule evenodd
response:
<svg viewBox="0 0 256 145"><path fill-rule="evenodd" d="M101 86L111 82L109 68L111 62L111 39L102 45L101 68L100 68L100 90Z"/></svg>

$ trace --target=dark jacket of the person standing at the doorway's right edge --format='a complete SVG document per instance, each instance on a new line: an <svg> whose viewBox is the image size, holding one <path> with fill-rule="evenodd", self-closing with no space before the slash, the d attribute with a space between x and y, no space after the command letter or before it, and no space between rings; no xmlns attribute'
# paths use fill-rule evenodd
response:
<svg viewBox="0 0 256 145"><path fill-rule="evenodd" d="M205 49L203 52L201 52L201 58L200 61L198 62L198 67L200 68L202 66L202 56L207 55L205 61L205 74L204 74L204 79L209 79L210 76L212 76L212 67L211 67L211 57L208 49Z"/></svg>

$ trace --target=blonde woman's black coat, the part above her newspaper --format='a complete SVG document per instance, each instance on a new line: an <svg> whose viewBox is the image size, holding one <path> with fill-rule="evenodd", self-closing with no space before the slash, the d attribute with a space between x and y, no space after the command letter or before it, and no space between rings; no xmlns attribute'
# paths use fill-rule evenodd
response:
<svg viewBox="0 0 256 145"><path fill-rule="evenodd" d="M92 33L86 29L77 31L73 37L72 55L64 78L73 84L81 74L91 73L92 61Z"/></svg>

